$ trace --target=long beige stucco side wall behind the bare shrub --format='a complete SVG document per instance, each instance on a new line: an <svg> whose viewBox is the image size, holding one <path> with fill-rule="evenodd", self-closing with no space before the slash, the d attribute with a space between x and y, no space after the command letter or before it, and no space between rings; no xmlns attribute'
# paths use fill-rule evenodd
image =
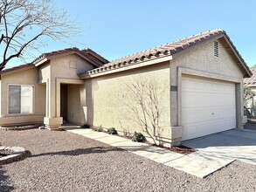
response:
<svg viewBox="0 0 256 192"><path fill-rule="evenodd" d="M125 129L131 134L136 131L147 135L139 123L140 119L143 120L142 109L130 89L133 87L133 90L142 90L142 84L157 87L159 127L170 128L169 62L86 79L87 123L93 126L114 127L119 131ZM144 93L144 101L150 105L147 92ZM134 106L137 108L133 108ZM139 117L134 110L139 110ZM149 130L153 134L152 127Z"/></svg>

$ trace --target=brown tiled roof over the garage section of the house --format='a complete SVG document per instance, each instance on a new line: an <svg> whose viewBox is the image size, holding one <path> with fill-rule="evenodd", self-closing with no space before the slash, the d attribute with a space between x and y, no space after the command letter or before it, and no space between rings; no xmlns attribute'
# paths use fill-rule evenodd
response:
<svg viewBox="0 0 256 192"><path fill-rule="evenodd" d="M239 59L239 65L241 65L241 67L245 70L246 77L250 77L252 75L252 72L250 71L249 67L246 65L245 60L241 57L241 55L239 54L239 51L237 51L236 47L232 44L232 41L226 35L226 32L220 29L206 31L204 33L191 36L190 38L184 38L184 39L172 42L170 44L161 45L153 49L137 52L133 55L128 55L127 57L116 59L110 63L102 65L88 72L80 73L79 75L80 76L93 75L100 72L107 72L107 71L115 70L121 67L126 67L128 65L136 65L136 64L139 64L148 60L153 60L156 58L167 57L170 55L174 55L180 51L186 50L194 45L198 45L206 40L210 40L212 38L217 38L217 37L219 38L225 37L227 42L232 47L232 51Z"/></svg>

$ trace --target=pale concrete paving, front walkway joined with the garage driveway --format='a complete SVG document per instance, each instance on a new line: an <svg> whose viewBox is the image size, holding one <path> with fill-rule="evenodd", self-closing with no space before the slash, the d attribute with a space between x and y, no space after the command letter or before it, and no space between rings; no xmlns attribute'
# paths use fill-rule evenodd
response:
<svg viewBox="0 0 256 192"><path fill-rule="evenodd" d="M198 149L195 153L185 155L145 143L136 143L116 135L94 132L91 129L70 127L65 129L73 134L80 134L113 147L120 147L133 154L202 178L236 159L249 161L256 165L256 132L252 130L233 129L183 142L183 145Z"/></svg>

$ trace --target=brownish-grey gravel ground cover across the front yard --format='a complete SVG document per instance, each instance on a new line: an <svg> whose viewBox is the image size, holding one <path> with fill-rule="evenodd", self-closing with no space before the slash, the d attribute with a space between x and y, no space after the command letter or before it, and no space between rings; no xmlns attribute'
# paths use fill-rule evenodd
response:
<svg viewBox="0 0 256 192"><path fill-rule="evenodd" d="M205 179L68 132L5 131L31 157L0 167L0 191L256 191L256 166L233 162Z"/></svg>

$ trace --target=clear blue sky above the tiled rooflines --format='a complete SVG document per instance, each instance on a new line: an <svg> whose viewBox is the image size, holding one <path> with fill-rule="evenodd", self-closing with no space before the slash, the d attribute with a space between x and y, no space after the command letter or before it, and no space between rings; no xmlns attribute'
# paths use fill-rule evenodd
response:
<svg viewBox="0 0 256 192"><path fill-rule="evenodd" d="M255 0L54 0L81 34L63 42L48 41L41 52L70 46L91 48L108 60L221 28L247 65L256 65ZM36 53L39 56L39 53ZM28 60L28 62L31 60ZM14 60L7 67L23 64Z"/></svg>

